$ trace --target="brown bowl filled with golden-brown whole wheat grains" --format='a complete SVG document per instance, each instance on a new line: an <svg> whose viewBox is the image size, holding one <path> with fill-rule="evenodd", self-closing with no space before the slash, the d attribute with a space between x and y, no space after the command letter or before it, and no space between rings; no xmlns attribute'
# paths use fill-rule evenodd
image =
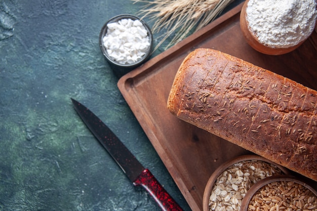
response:
<svg viewBox="0 0 317 211"><path fill-rule="evenodd" d="M249 190L241 210L317 210L317 192L306 181L293 176L268 177Z"/></svg>

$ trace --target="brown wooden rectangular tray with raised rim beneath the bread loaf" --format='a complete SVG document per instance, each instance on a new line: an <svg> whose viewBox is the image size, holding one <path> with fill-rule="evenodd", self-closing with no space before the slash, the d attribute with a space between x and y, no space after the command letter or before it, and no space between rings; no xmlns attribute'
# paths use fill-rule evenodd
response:
<svg viewBox="0 0 317 211"><path fill-rule="evenodd" d="M205 185L215 169L250 152L178 119L166 108L176 71L191 51L216 49L317 90L316 31L291 53L258 53L240 30L242 5L124 75L117 84L192 210L202 210Z"/></svg>

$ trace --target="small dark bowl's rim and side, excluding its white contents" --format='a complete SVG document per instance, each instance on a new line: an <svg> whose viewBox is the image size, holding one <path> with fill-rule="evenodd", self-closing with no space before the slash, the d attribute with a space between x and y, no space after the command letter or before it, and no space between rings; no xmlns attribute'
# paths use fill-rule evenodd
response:
<svg viewBox="0 0 317 211"><path fill-rule="evenodd" d="M135 63L132 63L132 64L121 64L121 63L118 63L117 61L113 60L109 54L107 53L107 50L106 48L103 46L103 42L102 42L102 39L103 37L106 35L107 33L107 24L108 23L113 23L113 22L117 22L121 19L131 19L131 20L139 20L143 26L145 27L145 29L147 30L147 35L149 37L149 41L150 41L150 46L147 50L147 53L140 59L138 60L137 62ZM118 15L118 16L115 16L113 18L111 18L110 20L108 20L102 27L101 31L100 31L100 34L99 34L99 47L103 53L103 55L106 57L106 60L110 63L110 65L112 67L116 67L117 68L120 68L120 69L129 69L129 70L132 70L134 68L136 68L137 66L143 64L146 60L148 60L148 58L150 57L151 55L151 51L152 51L152 47L153 47L153 35L152 35L152 32L151 32L151 29L150 27L145 23L145 21L143 21L142 19L138 18L137 16L134 16L134 15L129 15L129 14L123 14L123 15Z"/></svg>

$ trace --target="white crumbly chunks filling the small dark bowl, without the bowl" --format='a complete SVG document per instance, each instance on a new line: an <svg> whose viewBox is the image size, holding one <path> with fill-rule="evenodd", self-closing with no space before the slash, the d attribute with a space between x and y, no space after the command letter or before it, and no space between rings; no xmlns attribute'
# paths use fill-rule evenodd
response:
<svg viewBox="0 0 317 211"><path fill-rule="evenodd" d="M150 47L144 25L139 20L130 18L108 23L102 43L109 57L119 64L138 62Z"/></svg>

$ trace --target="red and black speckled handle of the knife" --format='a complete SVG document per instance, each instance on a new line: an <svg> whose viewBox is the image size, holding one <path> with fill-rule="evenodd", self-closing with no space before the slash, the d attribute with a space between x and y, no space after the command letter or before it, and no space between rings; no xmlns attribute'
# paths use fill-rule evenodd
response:
<svg viewBox="0 0 317 211"><path fill-rule="evenodd" d="M141 185L145 188L145 190L155 199L156 203L159 204L162 210L183 210L148 169L145 169L139 175L139 177L133 182L133 185Z"/></svg>

